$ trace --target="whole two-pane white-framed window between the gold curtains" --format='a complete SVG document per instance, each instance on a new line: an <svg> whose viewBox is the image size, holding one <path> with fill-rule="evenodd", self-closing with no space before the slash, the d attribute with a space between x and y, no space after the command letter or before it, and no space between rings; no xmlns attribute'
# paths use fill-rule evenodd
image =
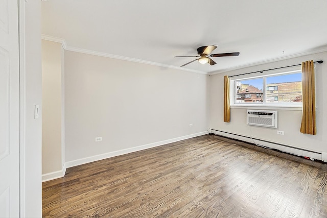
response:
<svg viewBox="0 0 327 218"><path fill-rule="evenodd" d="M231 105L298 106L302 102L300 70L231 80Z"/></svg>

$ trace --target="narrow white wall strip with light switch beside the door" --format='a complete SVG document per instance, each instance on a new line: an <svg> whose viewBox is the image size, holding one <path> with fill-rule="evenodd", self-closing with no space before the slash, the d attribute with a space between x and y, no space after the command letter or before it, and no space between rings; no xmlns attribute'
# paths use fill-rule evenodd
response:
<svg viewBox="0 0 327 218"><path fill-rule="evenodd" d="M24 10L25 6L25 10ZM21 77L21 217L42 217L41 125L34 105L41 106L41 1L20 0ZM21 29L20 29L21 30ZM42 110L41 110L42 111ZM42 112L41 112L42 113Z"/></svg>

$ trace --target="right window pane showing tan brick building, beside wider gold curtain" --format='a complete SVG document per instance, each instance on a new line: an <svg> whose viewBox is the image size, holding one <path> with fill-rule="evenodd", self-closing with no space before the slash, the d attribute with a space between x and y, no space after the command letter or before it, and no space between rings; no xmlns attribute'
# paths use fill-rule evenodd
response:
<svg viewBox="0 0 327 218"><path fill-rule="evenodd" d="M302 102L301 73L267 77L266 102Z"/></svg>

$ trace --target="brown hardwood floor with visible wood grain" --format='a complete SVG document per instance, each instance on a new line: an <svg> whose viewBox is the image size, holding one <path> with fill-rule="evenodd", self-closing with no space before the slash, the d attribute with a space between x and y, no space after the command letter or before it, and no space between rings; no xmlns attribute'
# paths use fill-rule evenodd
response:
<svg viewBox="0 0 327 218"><path fill-rule="evenodd" d="M215 135L68 168L43 217L327 217L327 164Z"/></svg>

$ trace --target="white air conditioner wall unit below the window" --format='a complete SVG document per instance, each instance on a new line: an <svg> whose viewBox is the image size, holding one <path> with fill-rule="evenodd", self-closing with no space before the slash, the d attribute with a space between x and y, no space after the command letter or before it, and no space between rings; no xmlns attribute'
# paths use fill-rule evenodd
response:
<svg viewBox="0 0 327 218"><path fill-rule="evenodd" d="M246 110L246 124L252 126L277 128L277 111Z"/></svg>

